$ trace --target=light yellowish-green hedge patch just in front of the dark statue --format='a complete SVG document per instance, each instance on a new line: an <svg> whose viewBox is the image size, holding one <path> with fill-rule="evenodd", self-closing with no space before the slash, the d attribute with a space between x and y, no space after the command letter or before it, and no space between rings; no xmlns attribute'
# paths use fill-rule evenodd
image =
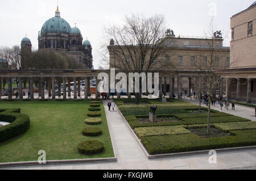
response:
<svg viewBox="0 0 256 181"><path fill-rule="evenodd" d="M172 127L144 127L144 128L135 128L135 133L139 136L164 136L172 134L188 134L191 133L187 129L181 126L172 126Z"/></svg>

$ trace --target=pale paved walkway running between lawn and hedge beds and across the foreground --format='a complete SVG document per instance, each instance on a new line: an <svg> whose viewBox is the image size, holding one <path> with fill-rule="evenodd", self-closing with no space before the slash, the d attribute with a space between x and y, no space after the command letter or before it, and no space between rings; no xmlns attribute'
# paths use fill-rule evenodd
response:
<svg viewBox="0 0 256 181"><path fill-rule="evenodd" d="M217 153L217 163L210 164L208 154L187 155L183 157L169 157L158 159L147 159L141 146L135 140L133 133L115 108L109 111L104 102L106 116L109 122L109 130L113 140L113 147L117 156L117 162L104 163L79 163L67 165L44 165L13 167L9 169L92 169L92 170L113 170L113 169L251 169L256 166L256 149L227 151Z"/></svg>

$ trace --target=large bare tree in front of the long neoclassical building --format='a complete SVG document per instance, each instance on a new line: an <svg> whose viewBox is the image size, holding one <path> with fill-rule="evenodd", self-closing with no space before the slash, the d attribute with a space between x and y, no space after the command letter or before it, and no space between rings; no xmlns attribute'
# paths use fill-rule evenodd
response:
<svg viewBox="0 0 256 181"><path fill-rule="evenodd" d="M124 73L147 74L148 71L168 68L170 62L164 58L165 30L162 15L150 18L141 15L126 16L122 27L105 28L106 37L111 40L108 46L111 58L105 57L104 61L110 68ZM139 85L141 86L141 81ZM141 89L139 93L135 93L137 103L140 97Z"/></svg>

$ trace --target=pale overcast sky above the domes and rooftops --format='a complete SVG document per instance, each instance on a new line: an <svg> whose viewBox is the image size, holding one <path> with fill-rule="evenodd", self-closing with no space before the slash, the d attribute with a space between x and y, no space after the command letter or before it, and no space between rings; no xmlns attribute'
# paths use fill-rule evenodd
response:
<svg viewBox="0 0 256 181"><path fill-rule="evenodd" d="M254 0L59 0L61 18L71 27L81 30L84 40L93 47L93 65L100 66L100 47L104 41L104 27L121 24L125 15L142 14L146 17L162 14L168 28L176 36L205 36L210 14L214 26L224 31L224 45L229 46L230 17L247 9ZM44 22L55 15L57 0L0 0L0 46L19 45L23 37L38 49L38 31ZM216 12L216 13L215 13Z"/></svg>

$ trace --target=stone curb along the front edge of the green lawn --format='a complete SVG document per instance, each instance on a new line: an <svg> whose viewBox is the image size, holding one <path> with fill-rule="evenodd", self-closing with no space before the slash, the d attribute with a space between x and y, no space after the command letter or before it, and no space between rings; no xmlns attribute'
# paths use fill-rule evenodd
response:
<svg viewBox="0 0 256 181"><path fill-rule="evenodd" d="M14 166L45 166L45 165L57 165L57 164L68 164L68 163L93 163L93 162L115 162L116 157L113 158L92 158L92 159L63 159L63 160L51 160L46 161L45 164L40 164L36 161L31 162L10 162L0 163L0 168L3 167L14 167Z"/></svg>

